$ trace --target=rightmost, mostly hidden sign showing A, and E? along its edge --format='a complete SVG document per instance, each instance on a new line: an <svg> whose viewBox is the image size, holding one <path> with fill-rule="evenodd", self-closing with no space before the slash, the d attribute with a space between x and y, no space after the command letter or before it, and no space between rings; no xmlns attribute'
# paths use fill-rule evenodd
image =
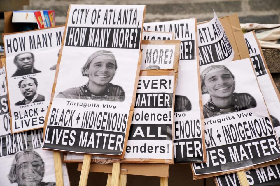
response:
<svg viewBox="0 0 280 186"><path fill-rule="evenodd" d="M263 57L260 45L257 38L255 37L255 33L245 33L244 38L248 47L255 74L258 79L260 90L262 91L262 95L267 105L267 109L269 111L270 118L272 119L272 124L279 141L280 123L279 115L277 114L280 108L279 92L275 86L274 81L272 80L269 69L267 68L265 58ZM278 160L276 160L276 162L277 161ZM279 185L279 168L279 165L272 165L245 171L249 185ZM238 178L236 178L237 176L235 173L227 174L223 176L217 176L215 182L218 186L225 184L240 185Z"/></svg>

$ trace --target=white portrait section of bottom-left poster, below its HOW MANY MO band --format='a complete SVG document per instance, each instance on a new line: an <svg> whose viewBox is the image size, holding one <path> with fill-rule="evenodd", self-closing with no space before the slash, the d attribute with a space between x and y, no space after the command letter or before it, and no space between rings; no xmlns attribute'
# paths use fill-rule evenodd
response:
<svg viewBox="0 0 280 186"><path fill-rule="evenodd" d="M44 151L42 148L19 151L0 157L0 163L1 186L56 185L52 151ZM64 186L69 186L70 183L65 163L62 163L62 172Z"/></svg>

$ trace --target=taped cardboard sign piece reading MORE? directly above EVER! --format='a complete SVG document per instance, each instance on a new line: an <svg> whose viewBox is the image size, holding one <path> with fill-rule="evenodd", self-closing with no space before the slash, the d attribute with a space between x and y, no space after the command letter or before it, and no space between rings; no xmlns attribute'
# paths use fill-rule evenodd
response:
<svg viewBox="0 0 280 186"><path fill-rule="evenodd" d="M141 44L141 70L174 69L178 71L179 40L143 40Z"/></svg>

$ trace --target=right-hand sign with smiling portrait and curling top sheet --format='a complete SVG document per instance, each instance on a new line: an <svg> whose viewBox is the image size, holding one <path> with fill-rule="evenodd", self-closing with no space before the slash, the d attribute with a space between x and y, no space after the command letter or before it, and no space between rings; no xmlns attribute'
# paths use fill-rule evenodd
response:
<svg viewBox="0 0 280 186"><path fill-rule="evenodd" d="M198 29L219 25L215 17ZM244 40L233 40L227 45L228 53L232 43L238 46L242 42L245 44ZM249 169L279 158L279 144L250 60L202 62L200 71L207 163L192 164L194 179Z"/></svg>

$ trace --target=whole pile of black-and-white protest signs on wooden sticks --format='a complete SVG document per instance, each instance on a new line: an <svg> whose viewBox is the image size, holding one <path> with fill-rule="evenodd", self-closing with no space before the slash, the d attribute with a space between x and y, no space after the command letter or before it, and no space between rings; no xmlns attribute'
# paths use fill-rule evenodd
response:
<svg viewBox="0 0 280 186"><path fill-rule="evenodd" d="M145 10L70 5L65 26L3 34L0 185L69 185L57 152L88 160L85 183L112 163L160 177L192 163L218 186L244 185L240 171L279 184L280 94L254 32L236 14L144 23Z"/></svg>

